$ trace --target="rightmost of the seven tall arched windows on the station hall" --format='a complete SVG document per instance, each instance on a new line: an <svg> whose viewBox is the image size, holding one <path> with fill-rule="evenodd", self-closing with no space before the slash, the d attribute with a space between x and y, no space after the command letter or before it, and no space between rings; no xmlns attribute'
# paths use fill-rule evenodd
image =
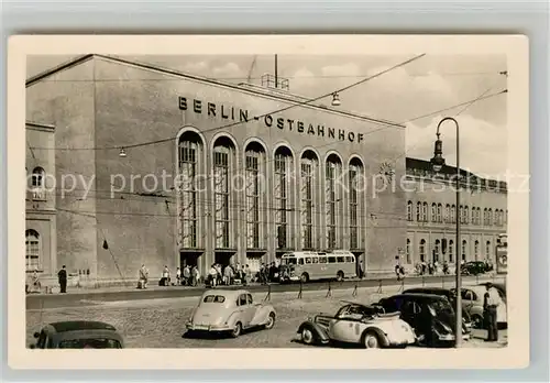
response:
<svg viewBox="0 0 550 383"><path fill-rule="evenodd" d="M361 174L363 172L363 163L353 157L350 161L350 169L349 169L349 216L350 216L350 249L359 249L361 243L361 230L360 228L360 217L362 216L360 211L363 209L362 198L360 198L361 194L361 185L359 184L362 179ZM407 219L413 220L413 201L407 203Z"/></svg>

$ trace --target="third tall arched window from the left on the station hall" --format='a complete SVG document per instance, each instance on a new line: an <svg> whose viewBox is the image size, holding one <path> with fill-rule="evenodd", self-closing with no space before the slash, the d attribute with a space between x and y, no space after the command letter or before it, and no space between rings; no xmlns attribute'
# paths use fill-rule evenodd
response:
<svg viewBox="0 0 550 383"><path fill-rule="evenodd" d="M262 233L265 230L265 217L262 211L265 193L262 180L265 179L265 151L257 142L246 145L246 248L263 249L265 243Z"/></svg>

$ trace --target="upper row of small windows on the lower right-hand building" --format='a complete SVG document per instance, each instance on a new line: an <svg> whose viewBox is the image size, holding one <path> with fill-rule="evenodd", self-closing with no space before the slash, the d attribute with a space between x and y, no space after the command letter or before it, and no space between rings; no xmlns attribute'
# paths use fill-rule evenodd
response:
<svg viewBox="0 0 550 383"><path fill-rule="evenodd" d="M431 216L428 219L428 203L416 204L416 221L417 222L436 222L436 223L454 223L457 219L457 207L447 204L443 210L443 205L431 204ZM472 207L470 211L468 206L459 207L460 222L463 225L482 225L482 211L480 207ZM411 200L407 201L407 220L415 220L415 209ZM492 208L483 209L483 226L506 226L508 221L508 210Z"/></svg>

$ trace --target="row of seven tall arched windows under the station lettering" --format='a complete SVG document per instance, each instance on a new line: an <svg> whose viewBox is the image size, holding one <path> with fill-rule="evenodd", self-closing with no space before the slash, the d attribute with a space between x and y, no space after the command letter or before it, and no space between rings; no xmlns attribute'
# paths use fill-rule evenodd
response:
<svg viewBox="0 0 550 383"><path fill-rule="evenodd" d="M200 247L198 226L200 223L199 214L201 196L196 185L197 175L205 172L202 150L204 144L200 136L195 132L185 132L178 142L179 150L179 178L180 178L180 245L183 248ZM213 145L213 205L215 205L215 227L217 249L235 248L231 226L234 222L234 209L230 208L233 199L232 177L237 174L244 174L245 177L245 207L243 208L246 219L246 247L249 249L265 249L265 238L267 237L267 221L275 223L275 245L277 249L290 249L294 247L290 241L290 227L295 227L294 196L295 188L299 188L298 204L300 239L302 249L316 249L326 247L337 249L344 247L343 228L349 229L349 247L359 249L362 247L361 222L359 217L364 208L360 192L358 190L358 179L363 169L363 163L359 158L350 162L348 172L349 195L348 195L348 218L343 216L343 185L341 175L343 166L340 157L336 154L328 156L324 164L324 190L320 189L319 158L314 151L306 151L299 158L300 174L298 185L293 183L294 173L293 153L289 147L279 146L274 153L273 162L273 193L263 190L262 186L266 179L267 156L264 147L258 142L251 142L245 147L244 169L239 172L235 168L237 150L229 138L219 138ZM205 172L207 173L207 172ZM324 238L321 231L317 230L320 222L316 222L315 201L323 197L323 207L318 207L318 211L324 214ZM272 217L267 217L265 206L273 204ZM298 205L296 204L296 205ZM234 205L232 205L234 207ZM320 228L319 228L320 229ZM323 240L323 244L321 244Z"/></svg>

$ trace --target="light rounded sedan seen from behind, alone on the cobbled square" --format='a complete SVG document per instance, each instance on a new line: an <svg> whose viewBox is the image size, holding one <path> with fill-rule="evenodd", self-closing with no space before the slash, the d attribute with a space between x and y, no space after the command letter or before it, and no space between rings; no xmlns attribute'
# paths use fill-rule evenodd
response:
<svg viewBox="0 0 550 383"><path fill-rule="evenodd" d="M275 309L254 303L245 289L208 289L200 297L187 322L188 332L230 332L233 338L253 327L272 329Z"/></svg>

